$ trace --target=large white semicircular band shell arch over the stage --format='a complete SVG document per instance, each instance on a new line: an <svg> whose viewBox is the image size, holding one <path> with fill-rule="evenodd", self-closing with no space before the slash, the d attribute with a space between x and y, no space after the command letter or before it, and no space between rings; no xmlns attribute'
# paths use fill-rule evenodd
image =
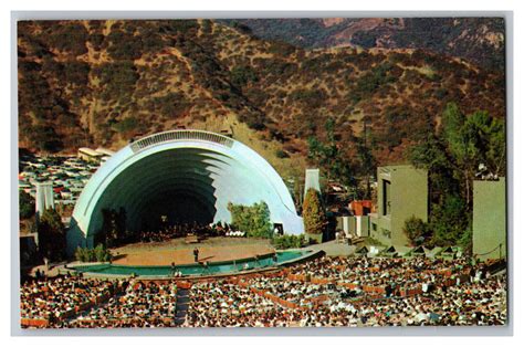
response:
<svg viewBox="0 0 524 347"><path fill-rule="evenodd" d="M82 191L67 232L67 251L93 246L102 209L126 209L130 225L148 197L166 189L193 194L214 222L231 221L229 202L264 201L271 221L285 233L304 232L287 187L259 154L227 136L202 130L170 130L140 138L113 155ZM209 210L209 211L208 211Z"/></svg>

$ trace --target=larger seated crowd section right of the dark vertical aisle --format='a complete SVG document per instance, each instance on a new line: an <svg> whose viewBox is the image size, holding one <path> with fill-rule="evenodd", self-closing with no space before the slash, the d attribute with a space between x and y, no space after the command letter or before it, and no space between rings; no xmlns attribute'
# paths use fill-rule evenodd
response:
<svg viewBox="0 0 524 347"><path fill-rule="evenodd" d="M406 272L409 266L413 266L412 272ZM350 272L346 267L364 274L361 285L367 285L366 278L369 284L384 285L387 282L377 280L381 277L409 287L425 280L425 273L437 275L432 278L433 286L413 295L385 292L379 297L367 296L361 288L347 295L347 290L338 285L290 280L285 273L247 277L241 281L242 286L220 281L198 284L191 292L195 296L187 326L469 326L506 322L505 274L493 276L484 264L469 264L463 259L322 257L292 266L291 273L340 280ZM365 269L373 270L368 273ZM451 271L451 275L449 272L446 275L450 278L454 278L453 273L465 271L468 280L444 284L439 282L444 278L440 274L444 271ZM254 294L253 288L295 305L284 307L260 293ZM217 314L210 316L210 313Z"/></svg>

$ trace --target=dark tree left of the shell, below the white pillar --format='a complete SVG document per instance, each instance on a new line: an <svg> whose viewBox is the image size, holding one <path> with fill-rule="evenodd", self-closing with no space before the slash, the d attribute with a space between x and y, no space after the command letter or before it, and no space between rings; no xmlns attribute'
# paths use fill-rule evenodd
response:
<svg viewBox="0 0 524 347"><path fill-rule="evenodd" d="M65 227L54 209L45 210L39 219L39 243L43 255L62 260L65 250Z"/></svg>

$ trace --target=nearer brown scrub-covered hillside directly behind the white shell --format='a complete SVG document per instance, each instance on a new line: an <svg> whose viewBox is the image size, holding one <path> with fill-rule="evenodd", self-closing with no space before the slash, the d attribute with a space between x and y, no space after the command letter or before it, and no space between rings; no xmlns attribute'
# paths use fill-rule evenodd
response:
<svg viewBox="0 0 524 347"><path fill-rule="evenodd" d="M209 20L22 21L20 146L118 148L137 135L232 130L297 177L326 119L348 158L401 161L448 102L505 116L504 76L425 50L304 50Z"/></svg>

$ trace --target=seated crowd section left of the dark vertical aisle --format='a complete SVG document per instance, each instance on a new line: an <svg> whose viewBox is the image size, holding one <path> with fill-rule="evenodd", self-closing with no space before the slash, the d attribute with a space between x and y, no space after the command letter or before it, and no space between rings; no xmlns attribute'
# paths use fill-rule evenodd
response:
<svg viewBox="0 0 524 347"><path fill-rule="evenodd" d="M28 282L21 287L21 317L45 319L48 327L175 326L175 282L60 276Z"/></svg>

